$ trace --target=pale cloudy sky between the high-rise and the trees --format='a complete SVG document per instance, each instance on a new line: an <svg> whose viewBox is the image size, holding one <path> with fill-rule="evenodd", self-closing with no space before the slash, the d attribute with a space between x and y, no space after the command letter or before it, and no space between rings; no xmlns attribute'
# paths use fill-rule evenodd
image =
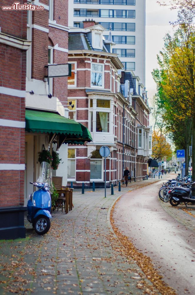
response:
<svg viewBox="0 0 195 295"><path fill-rule="evenodd" d="M172 32L169 21L177 18L176 10L156 2L157 0L146 0L146 89L149 98L156 92L156 84L151 75L153 68L158 67L156 55L163 48L165 34Z"/></svg>

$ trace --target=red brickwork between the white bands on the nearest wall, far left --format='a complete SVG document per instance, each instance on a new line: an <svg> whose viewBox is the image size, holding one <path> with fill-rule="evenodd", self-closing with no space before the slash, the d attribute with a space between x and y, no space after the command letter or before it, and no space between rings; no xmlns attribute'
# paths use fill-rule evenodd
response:
<svg viewBox="0 0 195 295"><path fill-rule="evenodd" d="M24 3L26 1L20 1ZM13 1L1 1L2 5ZM3 11L1 32L27 38L27 11ZM26 51L0 43L0 86L13 89L12 95L0 94L0 118L25 121L25 98L14 96L16 90L26 89ZM0 163L24 164L24 128L0 126ZM24 205L24 171L0 170L0 206Z"/></svg>

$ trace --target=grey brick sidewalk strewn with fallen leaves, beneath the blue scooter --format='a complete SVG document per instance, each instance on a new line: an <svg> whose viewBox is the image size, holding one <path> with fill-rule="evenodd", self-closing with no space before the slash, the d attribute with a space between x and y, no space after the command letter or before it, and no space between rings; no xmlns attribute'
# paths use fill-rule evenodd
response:
<svg viewBox="0 0 195 295"><path fill-rule="evenodd" d="M156 182L148 179L128 187L95 192L75 190L68 214L55 210L51 229L37 235L25 220L26 239L0 241L0 294L159 294L122 247L110 225L110 210L128 190ZM145 292L145 293L144 293ZM149 292L149 293L147 293Z"/></svg>

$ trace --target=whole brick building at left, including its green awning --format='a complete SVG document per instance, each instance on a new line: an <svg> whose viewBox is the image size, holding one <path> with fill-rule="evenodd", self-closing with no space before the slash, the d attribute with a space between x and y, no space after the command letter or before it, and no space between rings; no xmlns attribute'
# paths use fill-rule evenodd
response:
<svg viewBox="0 0 195 295"><path fill-rule="evenodd" d="M63 176L67 144L62 143L67 135L68 142L87 137L79 123L66 119L68 73L47 77L49 65L67 65L68 0L37 0L38 10L2 9L12 4L0 1L0 239L25 237L24 211L33 191L29 182L39 176L43 146L50 152L61 146L65 161L58 173ZM53 130L50 124L43 129L40 118L49 122L51 117L65 128Z"/></svg>

